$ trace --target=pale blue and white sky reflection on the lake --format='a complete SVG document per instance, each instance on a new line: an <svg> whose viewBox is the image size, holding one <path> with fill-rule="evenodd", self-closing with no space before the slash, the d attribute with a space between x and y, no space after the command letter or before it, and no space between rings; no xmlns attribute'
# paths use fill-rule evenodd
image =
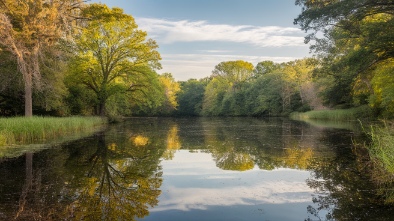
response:
<svg viewBox="0 0 394 221"><path fill-rule="evenodd" d="M306 207L313 193L305 184L308 171L222 170L210 153L187 150L176 152L162 165L160 203L143 220L302 220L308 216Z"/></svg>

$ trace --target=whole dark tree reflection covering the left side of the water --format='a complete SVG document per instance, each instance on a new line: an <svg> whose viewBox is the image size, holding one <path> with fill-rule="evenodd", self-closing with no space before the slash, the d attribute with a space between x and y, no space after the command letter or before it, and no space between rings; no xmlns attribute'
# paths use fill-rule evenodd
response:
<svg viewBox="0 0 394 221"><path fill-rule="evenodd" d="M162 137L118 129L34 158L29 154L26 160L2 162L0 220L134 220L148 215L161 193Z"/></svg>

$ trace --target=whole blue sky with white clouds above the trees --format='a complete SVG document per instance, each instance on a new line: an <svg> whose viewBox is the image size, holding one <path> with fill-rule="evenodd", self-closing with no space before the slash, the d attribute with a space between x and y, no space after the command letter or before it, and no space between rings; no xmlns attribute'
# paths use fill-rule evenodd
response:
<svg viewBox="0 0 394 221"><path fill-rule="evenodd" d="M177 81L201 79L223 61L256 65L309 57L293 24L295 0L91 0L123 8L156 40L162 69Z"/></svg>

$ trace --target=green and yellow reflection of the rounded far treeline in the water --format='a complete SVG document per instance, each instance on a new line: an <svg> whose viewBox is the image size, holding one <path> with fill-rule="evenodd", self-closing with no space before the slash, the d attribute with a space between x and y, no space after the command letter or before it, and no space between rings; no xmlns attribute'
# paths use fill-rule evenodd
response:
<svg viewBox="0 0 394 221"><path fill-rule="evenodd" d="M215 121L214 121L215 122ZM204 123L203 123L204 124ZM225 170L307 169L311 160L333 154L320 142L324 131L288 120L238 119L205 122L206 148ZM318 145L317 145L318 144Z"/></svg>

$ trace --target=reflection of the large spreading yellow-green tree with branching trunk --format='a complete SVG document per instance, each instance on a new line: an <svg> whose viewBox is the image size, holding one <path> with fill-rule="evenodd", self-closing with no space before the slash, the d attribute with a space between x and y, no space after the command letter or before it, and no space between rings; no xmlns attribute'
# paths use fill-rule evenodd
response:
<svg viewBox="0 0 394 221"><path fill-rule="evenodd" d="M105 137L97 136L96 151L83 156L87 159L83 164L75 159L68 164L73 169L76 165L81 176L68 185L74 200L67 213L76 220L132 220L148 215L148 206L157 205L161 193L162 174L157 163L151 165L158 159L152 159L141 142L135 145L135 139L118 144L106 142Z"/></svg>

